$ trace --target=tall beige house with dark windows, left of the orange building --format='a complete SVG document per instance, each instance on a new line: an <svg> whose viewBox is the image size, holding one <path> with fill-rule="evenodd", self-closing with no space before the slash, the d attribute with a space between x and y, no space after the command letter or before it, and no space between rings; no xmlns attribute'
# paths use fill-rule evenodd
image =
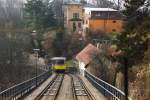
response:
<svg viewBox="0 0 150 100"><path fill-rule="evenodd" d="M71 2L64 5L64 27L70 32L82 31L83 6Z"/></svg>

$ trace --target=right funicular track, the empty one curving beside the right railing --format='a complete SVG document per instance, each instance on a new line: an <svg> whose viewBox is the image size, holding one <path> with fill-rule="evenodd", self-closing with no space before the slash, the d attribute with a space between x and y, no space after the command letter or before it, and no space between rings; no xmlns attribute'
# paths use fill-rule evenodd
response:
<svg viewBox="0 0 150 100"><path fill-rule="evenodd" d="M70 75L70 77L72 80L73 100L96 100L79 76Z"/></svg>

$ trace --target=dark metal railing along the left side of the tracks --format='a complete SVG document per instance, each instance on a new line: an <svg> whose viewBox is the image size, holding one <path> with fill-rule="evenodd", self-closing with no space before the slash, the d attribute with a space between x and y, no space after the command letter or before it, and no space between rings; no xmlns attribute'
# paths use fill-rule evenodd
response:
<svg viewBox="0 0 150 100"><path fill-rule="evenodd" d="M0 93L0 100L17 100L23 97L25 94L36 88L42 82L44 82L50 75L51 71L44 72L37 77L27 80L23 83L10 87ZM37 83L37 84L36 84Z"/></svg>

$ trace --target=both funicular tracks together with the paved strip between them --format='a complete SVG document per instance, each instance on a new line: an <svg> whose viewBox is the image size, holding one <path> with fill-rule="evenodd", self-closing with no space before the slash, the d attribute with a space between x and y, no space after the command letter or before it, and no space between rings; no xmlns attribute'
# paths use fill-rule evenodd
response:
<svg viewBox="0 0 150 100"><path fill-rule="evenodd" d="M57 74L34 100L96 100L78 75Z"/></svg>

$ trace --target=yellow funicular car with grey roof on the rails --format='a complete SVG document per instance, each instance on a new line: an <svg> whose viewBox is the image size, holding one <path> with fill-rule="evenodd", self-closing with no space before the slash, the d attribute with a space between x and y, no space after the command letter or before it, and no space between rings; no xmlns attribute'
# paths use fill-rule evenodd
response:
<svg viewBox="0 0 150 100"><path fill-rule="evenodd" d="M55 72L64 73L66 71L66 57L53 57L51 58L52 69Z"/></svg>

